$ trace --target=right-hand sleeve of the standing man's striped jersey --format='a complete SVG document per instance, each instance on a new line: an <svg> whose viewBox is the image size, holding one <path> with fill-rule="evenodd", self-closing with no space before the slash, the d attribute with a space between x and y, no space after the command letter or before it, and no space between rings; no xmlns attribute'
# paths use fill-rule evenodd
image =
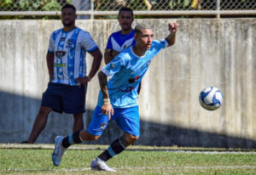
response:
<svg viewBox="0 0 256 175"><path fill-rule="evenodd" d="M86 49L87 52L91 53L98 48L96 42L92 39L92 37L90 37L90 33L81 32L81 35L82 35L81 45L83 48Z"/></svg>

